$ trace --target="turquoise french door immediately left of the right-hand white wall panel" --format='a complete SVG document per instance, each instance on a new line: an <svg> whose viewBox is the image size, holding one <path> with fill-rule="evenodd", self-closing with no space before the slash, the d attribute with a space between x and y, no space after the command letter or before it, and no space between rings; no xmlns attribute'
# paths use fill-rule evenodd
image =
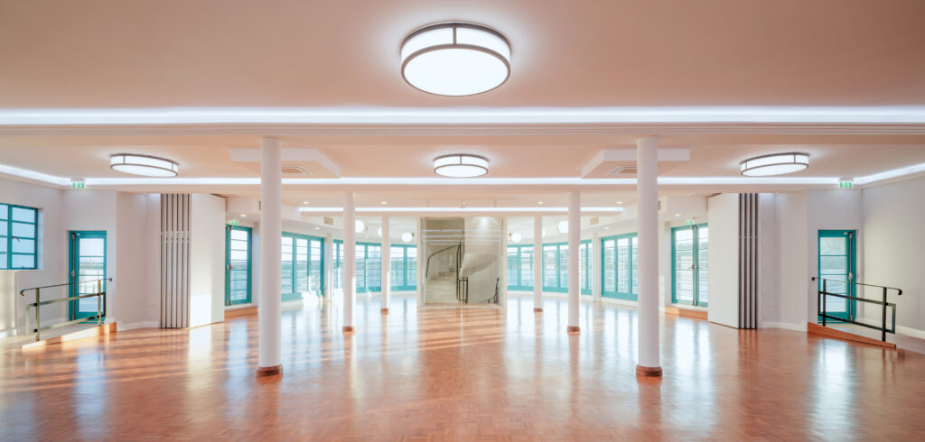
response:
<svg viewBox="0 0 925 442"><path fill-rule="evenodd" d="M708 305L709 227L706 223L672 229L672 303Z"/></svg>

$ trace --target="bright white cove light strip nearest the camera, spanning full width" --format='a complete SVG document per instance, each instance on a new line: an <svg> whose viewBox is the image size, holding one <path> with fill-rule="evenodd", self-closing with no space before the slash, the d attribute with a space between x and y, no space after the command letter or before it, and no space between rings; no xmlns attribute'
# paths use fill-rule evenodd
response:
<svg viewBox="0 0 925 442"><path fill-rule="evenodd" d="M925 124L925 106L6 109L0 125Z"/></svg>

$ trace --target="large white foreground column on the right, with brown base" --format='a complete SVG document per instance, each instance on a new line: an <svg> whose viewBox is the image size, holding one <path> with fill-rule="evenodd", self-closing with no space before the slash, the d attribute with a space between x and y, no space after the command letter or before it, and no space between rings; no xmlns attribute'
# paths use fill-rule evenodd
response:
<svg viewBox="0 0 925 442"><path fill-rule="evenodd" d="M661 376L659 361L659 140L636 142L638 205L638 341L636 376Z"/></svg>

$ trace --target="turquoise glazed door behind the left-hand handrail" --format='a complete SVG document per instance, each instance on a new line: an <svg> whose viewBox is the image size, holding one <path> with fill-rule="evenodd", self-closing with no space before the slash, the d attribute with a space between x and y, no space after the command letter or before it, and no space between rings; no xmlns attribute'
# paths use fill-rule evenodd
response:
<svg viewBox="0 0 925 442"><path fill-rule="evenodd" d="M105 292L106 281L106 233L97 231L71 231L68 233L68 278L69 295ZM99 300L100 304L97 304ZM95 317L97 309L102 313L101 297L89 297L70 301L70 320L81 317Z"/></svg>

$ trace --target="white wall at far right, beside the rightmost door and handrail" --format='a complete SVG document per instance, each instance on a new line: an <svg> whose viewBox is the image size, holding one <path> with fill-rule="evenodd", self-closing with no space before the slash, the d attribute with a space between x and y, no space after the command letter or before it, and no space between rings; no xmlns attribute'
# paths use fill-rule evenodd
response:
<svg viewBox="0 0 925 442"><path fill-rule="evenodd" d="M866 188L862 207L863 281L902 289L901 296L888 295L896 304L897 329L925 337L925 177ZM882 291L865 296L881 300ZM871 305L864 317L879 325L881 312Z"/></svg>

